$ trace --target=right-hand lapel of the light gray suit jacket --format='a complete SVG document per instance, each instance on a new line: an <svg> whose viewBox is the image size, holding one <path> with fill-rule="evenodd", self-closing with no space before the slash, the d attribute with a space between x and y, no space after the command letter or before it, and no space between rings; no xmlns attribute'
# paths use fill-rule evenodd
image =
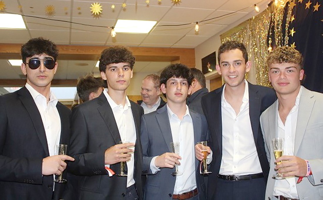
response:
<svg viewBox="0 0 323 200"><path fill-rule="evenodd" d="M312 114L314 103L315 98L313 98L313 94L303 87L297 114L294 155L297 155L297 151L303 140L309 117Z"/></svg>

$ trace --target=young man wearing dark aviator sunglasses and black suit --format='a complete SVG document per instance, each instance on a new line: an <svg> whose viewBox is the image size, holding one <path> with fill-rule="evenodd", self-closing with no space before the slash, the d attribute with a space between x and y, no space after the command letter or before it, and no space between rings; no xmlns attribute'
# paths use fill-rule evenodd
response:
<svg viewBox="0 0 323 200"><path fill-rule="evenodd" d="M43 38L21 47L26 85L0 96L0 194L2 199L61 199L63 184L54 176L66 168L67 155L55 155L68 144L69 109L50 91L57 70L56 45Z"/></svg>

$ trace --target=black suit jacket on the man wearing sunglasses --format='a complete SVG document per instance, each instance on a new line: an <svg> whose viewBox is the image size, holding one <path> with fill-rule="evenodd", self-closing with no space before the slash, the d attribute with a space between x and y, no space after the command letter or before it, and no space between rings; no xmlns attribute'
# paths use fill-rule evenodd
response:
<svg viewBox="0 0 323 200"><path fill-rule="evenodd" d="M71 111L57 103L61 144L68 144ZM0 96L0 197L48 199L53 196L53 175L42 176L42 160L49 156L46 133L38 108L26 87ZM54 199L65 184L55 183Z"/></svg>

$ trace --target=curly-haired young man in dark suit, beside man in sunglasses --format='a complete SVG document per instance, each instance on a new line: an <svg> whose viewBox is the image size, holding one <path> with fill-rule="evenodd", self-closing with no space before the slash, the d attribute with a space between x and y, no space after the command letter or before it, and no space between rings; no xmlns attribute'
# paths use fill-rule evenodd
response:
<svg viewBox="0 0 323 200"><path fill-rule="evenodd" d="M99 61L108 92L73 109L70 154L75 162L68 167L80 175L79 199L141 199L143 109L126 95L135 57L126 47L113 46L102 52ZM125 161L128 176L117 176Z"/></svg>

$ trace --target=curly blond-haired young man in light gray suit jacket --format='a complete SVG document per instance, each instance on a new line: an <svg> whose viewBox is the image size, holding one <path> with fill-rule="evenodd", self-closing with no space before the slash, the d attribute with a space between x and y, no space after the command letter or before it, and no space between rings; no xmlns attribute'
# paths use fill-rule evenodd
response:
<svg viewBox="0 0 323 200"><path fill-rule="evenodd" d="M269 81L278 100L260 118L270 163L286 179L268 178L266 199L323 199L323 94L301 86L302 55L283 46L268 55ZM272 139L284 138L283 156L275 160ZM281 164L276 163L283 161Z"/></svg>

